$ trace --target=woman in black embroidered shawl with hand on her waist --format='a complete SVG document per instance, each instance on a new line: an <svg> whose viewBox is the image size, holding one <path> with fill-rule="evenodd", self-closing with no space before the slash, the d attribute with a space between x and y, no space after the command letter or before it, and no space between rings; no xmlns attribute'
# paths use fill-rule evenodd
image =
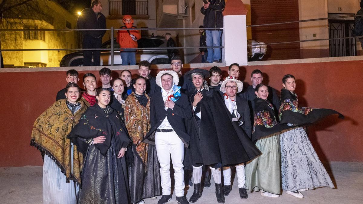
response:
<svg viewBox="0 0 363 204"><path fill-rule="evenodd" d="M131 140L119 114L108 106L110 97L110 91L99 89L98 102L68 135L85 155L78 203L130 203L124 155ZM130 153L126 151L126 159L132 158Z"/></svg>

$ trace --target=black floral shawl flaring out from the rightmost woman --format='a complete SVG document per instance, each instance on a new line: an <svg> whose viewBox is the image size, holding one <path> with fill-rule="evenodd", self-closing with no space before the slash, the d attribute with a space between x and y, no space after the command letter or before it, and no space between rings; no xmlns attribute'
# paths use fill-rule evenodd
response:
<svg viewBox="0 0 363 204"><path fill-rule="evenodd" d="M305 126L313 124L327 115L338 114L338 118L344 119L344 116L332 109L315 109L310 107L299 107L296 93L289 90L281 89L281 106L278 116L281 123Z"/></svg>

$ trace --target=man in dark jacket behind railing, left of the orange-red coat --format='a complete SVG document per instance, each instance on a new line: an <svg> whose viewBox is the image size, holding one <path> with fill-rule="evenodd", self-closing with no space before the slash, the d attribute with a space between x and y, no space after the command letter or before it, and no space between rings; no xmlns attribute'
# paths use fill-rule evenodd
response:
<svg viewBox="0 0 363 204"><path fill-rule="evenodd" d="M95 0L91 3L90 8L85 8L77 19L78 29L106 29L106 18L101 13L101 2ZM82 31L83 34L83 49L101 48L102 37L105 35L106 30L89 30ZM92 63L93 55L93 63ZM100 50L87 50L83 51L83 65L84 66L100 66Z"/></svg>

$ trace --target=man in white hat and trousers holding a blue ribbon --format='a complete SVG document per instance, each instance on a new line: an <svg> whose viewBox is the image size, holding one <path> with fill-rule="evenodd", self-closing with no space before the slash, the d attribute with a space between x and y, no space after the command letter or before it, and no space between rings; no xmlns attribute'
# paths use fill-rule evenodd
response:
<svg viewBox="0 0 363 204"><path fill-rule="evenodd" d="M184 147L189 145L184 120L192 118L192 109L187 95L175 92L178 74L171 70L163 70L156 76L156 84L162 90L151 96L150 122L151 130L145 142L155 142L160 162L161 185L163 196L158 204L171 200L170 157L174 168L176 201L188 204L184 197ZM153 136L155 134L155 137Z"/></svg>

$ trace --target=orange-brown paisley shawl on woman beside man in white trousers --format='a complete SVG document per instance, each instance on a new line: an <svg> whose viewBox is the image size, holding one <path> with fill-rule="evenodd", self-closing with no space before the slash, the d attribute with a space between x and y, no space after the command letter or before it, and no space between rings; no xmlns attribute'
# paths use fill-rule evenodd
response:
<svg viewBox="0 0 363 204"><path fill-rule="evenodd" d="M136 152L139 159L144 163L144 170L147 170L147 143L142 142L150 131L150 97L147 97L146 107L140 105L135 93L132 92L125 101L125 123L132 142L136 145Z"/></svg>

